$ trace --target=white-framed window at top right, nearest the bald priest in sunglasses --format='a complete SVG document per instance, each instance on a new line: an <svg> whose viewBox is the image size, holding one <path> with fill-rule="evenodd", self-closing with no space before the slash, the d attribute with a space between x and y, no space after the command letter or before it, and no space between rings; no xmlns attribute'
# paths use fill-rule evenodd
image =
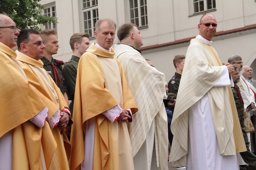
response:
<svg viewBox="0 0 256 170"><path fill-rule="evenodd" d="M194 13L216 8L215 0L193 0Z"/></svg>

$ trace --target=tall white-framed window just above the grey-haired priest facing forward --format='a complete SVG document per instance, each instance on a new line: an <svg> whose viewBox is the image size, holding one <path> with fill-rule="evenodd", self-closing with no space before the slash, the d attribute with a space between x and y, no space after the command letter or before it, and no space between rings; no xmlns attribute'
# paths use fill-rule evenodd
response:
<svg viewBox="0 0 256 170"><path fill-rule="evenodd" d="M95 23L99 20L98 0L82 0L84 32L94 37Z"/></svg>

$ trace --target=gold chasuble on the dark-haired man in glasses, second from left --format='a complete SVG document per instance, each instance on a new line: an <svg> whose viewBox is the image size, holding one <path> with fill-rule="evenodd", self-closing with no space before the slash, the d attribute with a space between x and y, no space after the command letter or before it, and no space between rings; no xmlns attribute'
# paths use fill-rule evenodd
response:
<svg viewBox="0 0 256 170"><path fill-rule="evenodd" d="M68 108L60 89L43 69L43 62L41 60L34 60L20 52L16 59L22 66L29 83L34 87L34 91L37 92L41 101L44 102L49 109L49 118L51 118L58 109L61 111L64 108ZM41 142L46 168L68 170L69 165L67 155L69 157L71 147L66 134L64 133L63 138L65 147L67 147L67 154L58 126L54 129L50 129L50 126L46 121L42 129Z"/></svg>

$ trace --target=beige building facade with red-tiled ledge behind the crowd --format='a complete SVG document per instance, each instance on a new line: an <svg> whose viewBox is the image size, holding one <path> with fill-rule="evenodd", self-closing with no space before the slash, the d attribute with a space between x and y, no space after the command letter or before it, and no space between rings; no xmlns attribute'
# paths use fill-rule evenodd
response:
<svg viewBox="0 0 256 170"><path fill-rule="evenodd" d="M199 34L197 25L204 13L217 19L217 34L212 46L221 61L240 55L251 66L256 79L256 0L41 0L45 15L56 16L58 23L40 26L57 29L60 49L54 57L67 62L72 55L70 36L88 32L94 38L94 24L111 18L117 29L135 23L144 45L142 55L163 72L168 82L174 75L173 57L186 55L189 40ZM119 43L116 36L114 44Z"/></svg>

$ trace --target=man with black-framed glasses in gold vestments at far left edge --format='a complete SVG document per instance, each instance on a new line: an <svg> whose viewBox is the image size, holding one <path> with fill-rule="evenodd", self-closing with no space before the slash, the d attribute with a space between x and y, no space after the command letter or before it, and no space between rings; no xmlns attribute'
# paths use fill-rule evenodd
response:
<svg viewBox="0 0 256 170"><path fill-rule="evenodd" d="M17 54L11 48L17 45L19 32L14 21L0 14L0 27L0 169L38 169L33 154L41 145L34 150L38 144L35 134L42 131L44 122L33 120L47 115L48 108L15 60Z"/></svg>

